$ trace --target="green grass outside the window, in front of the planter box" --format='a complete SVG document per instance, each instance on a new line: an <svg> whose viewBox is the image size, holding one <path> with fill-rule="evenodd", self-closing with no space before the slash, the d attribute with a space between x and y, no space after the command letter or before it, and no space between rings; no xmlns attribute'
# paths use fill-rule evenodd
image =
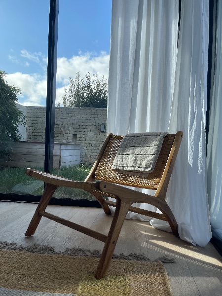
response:
<svg viewBox="0 0 222 296"><path fill-rule="evenodd" d="M43 171L43 168L37 168ZM53 174L66 177L76 181L84 181L91 170L91 166L77 165L53 169ZM25 168L1 168L0 169L0 192L1 193L43 193L43 182L25 174ZM81 189L59 187L53 197L94 199L93 196Z"/></svg>

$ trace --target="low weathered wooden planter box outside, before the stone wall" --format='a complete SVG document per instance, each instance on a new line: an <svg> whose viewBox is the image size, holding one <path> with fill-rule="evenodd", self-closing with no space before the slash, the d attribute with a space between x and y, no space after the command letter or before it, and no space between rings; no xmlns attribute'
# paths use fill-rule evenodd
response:
<svg viewBox="0 0 222 296"><path fill-rule="evenodd" d="M10 160L1 161L3 167L44 168L44 142L20 141L14 144ZM53 168L80 163L80 144L54 143Z"/></svg>

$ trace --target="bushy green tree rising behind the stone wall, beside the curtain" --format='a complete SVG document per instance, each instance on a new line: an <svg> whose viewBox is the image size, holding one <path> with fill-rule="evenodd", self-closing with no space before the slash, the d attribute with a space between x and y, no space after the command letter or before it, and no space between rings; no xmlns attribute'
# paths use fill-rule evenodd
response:
<svg viewBox="0 0 222 296"><path fill-rule="evenodd" d="M70 78L69 89L65 89L63 95L64 107L84 107L84 108L107 108L108 83L102 76L100 80L98 74L86 74L80 79L79 72L74 79ZM57 105L59 106L59 105Z"/></svg>

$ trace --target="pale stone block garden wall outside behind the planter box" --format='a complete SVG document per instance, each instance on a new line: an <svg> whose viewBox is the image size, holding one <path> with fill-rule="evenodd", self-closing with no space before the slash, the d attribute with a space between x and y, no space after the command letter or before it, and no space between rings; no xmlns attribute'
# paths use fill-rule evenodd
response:
<svg viewBox="0 0 222 296"><path fill-rule="evenodd" d="M27 141L45 141L45 111L46 107L27 107ZM100 131L106 123L105 108L57 107L54 141L80 144L80 162L93 164L106 139L106 132Z"/></svg>

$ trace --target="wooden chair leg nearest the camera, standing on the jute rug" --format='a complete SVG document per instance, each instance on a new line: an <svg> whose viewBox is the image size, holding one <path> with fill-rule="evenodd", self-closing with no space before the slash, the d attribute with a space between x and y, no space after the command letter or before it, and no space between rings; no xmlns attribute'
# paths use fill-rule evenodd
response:
<svg viewBox="0 0 222 296"><path fill-rule="evenodd" d="M117 199L114 217L112 219L111 228L107 236L107 240L103 249L101 259L99 261L95 277L101 279L105 277L111 263L112 255L115 249L116 242L119 237L122 224L126 218L126 214L130 205Z"/></svg>

